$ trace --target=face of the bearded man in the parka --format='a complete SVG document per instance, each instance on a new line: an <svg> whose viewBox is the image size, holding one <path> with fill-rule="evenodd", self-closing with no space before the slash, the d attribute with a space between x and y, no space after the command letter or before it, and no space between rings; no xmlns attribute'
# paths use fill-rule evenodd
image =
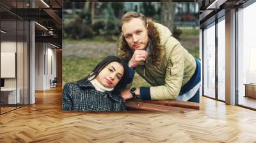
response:
<svg viewBox="0 0 256 143"><path fill-rule="evenodd" d="M146 50L148 44L148 31L140 18L133 18L124 22L122 32L132 51Z"/></svg>

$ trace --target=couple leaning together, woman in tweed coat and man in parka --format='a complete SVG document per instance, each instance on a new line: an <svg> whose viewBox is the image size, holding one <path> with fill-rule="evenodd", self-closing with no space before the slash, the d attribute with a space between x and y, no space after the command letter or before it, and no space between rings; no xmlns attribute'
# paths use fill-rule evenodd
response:
<svg viewBox="0 0 256 143"><path fill-rule="evenodd" d="M151 87L131 87L137 72ZM128 84L128 85L127 85ZM129 11L122 17L118 57L109 56L63 89L63 110L120 111L131 98L199 102L200 61L170 30Z"/></svg>

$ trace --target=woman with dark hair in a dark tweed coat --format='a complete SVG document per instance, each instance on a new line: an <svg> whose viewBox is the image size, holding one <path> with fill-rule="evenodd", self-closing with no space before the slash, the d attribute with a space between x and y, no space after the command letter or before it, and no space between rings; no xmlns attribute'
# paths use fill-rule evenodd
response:
<svg viewBox="0 0 256 143"><path fill-rule="evenodd" d="M62 110L125 110L120 91L128 80L127 64L118 57L108 56L84 79L65 84Z"/></svg>

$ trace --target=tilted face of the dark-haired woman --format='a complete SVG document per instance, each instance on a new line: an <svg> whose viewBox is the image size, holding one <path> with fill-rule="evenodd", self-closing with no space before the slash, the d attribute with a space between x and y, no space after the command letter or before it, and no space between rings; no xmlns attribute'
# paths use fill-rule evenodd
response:
<svg viewBox="0 0 256 143"><path fill-rule="evenodd" d="M100 71L96 79L102 86L113 88L122 79L123 74L123 66L120 63L113 61Z"/></svg>

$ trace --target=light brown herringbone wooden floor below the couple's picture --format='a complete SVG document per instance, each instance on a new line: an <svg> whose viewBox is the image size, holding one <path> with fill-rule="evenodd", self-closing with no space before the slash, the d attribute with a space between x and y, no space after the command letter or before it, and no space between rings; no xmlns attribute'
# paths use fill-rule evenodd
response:
<svg viewBox="0 0 256 143"><path fill-rule="evenodd" d="M57 87L1 115L0 142L256 142L256 112L202 97L186 113L64 113Z"/></svg>

